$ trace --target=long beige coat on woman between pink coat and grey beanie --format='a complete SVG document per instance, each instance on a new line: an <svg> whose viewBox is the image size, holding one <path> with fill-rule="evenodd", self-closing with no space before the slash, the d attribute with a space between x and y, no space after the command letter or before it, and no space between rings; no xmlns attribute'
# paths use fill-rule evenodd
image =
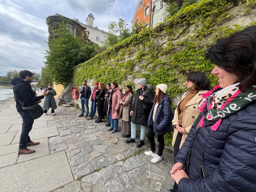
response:
<svg viewBox="0 0 256 192"><path fill-rule="evenodd" d="M121 99L120 104L122 104L124 101L124 98ZM128 95L126 96L125 99L125 106L120 105L120 112L119 112L119 118L123 121L130 121L131 120L131 116L130 116L130 112L131 112L131 107L132 107L132 101L133 101L133 94L131 92L128 93Z"/></svg>

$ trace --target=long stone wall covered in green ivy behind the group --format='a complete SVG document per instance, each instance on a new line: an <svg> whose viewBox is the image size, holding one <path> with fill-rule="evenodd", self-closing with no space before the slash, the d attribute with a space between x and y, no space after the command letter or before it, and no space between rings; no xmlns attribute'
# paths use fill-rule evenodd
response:
<svg viewBox="0 0 256 192"><path fill-rule="evenodd" d="M201 0L181 9L165 23L133 35L78 65L73 84L80 86L82 80L87 80L136 86L137 80L145 77L154 88L166 83L167 93L175 98L185 90L184 74L202 71L213 86L217 79L210 75L214 65L204 58L206 47L219 37L256 24L255 18L256 0Z"/></svg>

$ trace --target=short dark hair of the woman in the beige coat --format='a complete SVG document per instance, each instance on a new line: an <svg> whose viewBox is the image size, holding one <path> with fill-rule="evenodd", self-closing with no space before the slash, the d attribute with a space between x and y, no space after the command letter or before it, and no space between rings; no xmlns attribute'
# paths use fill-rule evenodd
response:
<svg viewBox="0 0 256 192"><path fill-rule="evenodd" d="M210 81L206 77L205 73L203 72L191 72L188 73L187 79L195 84L195 89L197 91L200 90L210 90Z"/></svg>

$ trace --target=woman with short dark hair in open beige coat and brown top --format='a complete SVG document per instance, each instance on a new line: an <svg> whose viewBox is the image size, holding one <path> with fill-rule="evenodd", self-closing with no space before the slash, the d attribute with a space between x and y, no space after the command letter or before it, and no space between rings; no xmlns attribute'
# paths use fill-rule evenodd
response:
<svg viewBox="0 0 256 192"><path fill-rule="evenodd" d="M210 81L202 72L192 72L187 74L185 82L188 90L182 96L174 111L173 127L174 136L172 145L174 147L174 161L177 153L188 136L191 126L197 119L200 111L197 107L197 101L201 95L210 89ZM178 192L178 186L174 183L174 192Z"/></svg>

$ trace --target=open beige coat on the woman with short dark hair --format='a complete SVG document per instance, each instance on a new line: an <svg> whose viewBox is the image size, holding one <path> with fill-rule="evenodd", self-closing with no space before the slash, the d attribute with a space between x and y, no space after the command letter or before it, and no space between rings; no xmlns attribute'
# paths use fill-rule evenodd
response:
<svg viewBox="0 0 256 192"><path fill-rule="evenodd" d="M183 119L182 119L182 127L184 128L184 133L183 133L183 136L182 136L182 140L181 140L181 144L180 144L180 147L183 145L186 137L188 136L188 132L190 131L194 121L197 119L197 117L199 116L199 109L198 109L198 106L197 106L197 101L201 98L201 95L203 93L207 92L207 90L201 90L199 91L193 98L192 100L190 100L185 108L184 108L184 111L183 111ZM182 99L181 101L183 101L183 99L187 96L187 94L189 93L189 91L185 92L182 96ZM177 104L177 108L176 110L174 111L174 119L173 119L173 126L175 125L179 125L179 105L180 105L180 102L178 102ZM177 137L177 134L178 134L178 131L176 128L174 128L174 136L173 136L173 141L172 141L172 146L174 146L174 143L175 143L175 140L176 140L176 137Z"/></svg>

